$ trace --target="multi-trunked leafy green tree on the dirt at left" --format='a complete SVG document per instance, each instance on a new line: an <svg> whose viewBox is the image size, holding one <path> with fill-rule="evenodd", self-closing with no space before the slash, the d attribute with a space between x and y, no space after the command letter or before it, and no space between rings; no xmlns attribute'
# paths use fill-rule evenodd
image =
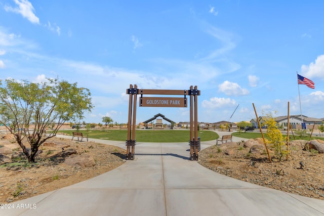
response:
<svg viewBox="0 0 324 216"><path fill-rule="evenodd" d="M56 136L64 122L83 118L85 111L91 111L90 96L90 91L78 88L76 82L0 80L0 123L15 136L28 162L35 162L38 147ZM45 130L53 124L51 133L45 136ZM24 139L30 149L23 144Z"/></svg>

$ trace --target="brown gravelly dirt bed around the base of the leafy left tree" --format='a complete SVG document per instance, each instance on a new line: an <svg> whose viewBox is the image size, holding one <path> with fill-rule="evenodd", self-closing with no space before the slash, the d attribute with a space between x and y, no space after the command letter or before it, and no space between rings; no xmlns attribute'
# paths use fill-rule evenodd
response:
<svg viewBox="0 0 324 216"><path fill-rule="evenodd" d="M125 150L115 146L60 138L51 138L46 143L39 148L42 153L36 157L36 162L30 164L24 162L21 148L14 140L0 140L1 148L10 148L11 155L16 155L11 163L0 163L0 203L10 203L82 182L125 162ZM68 165L64 162L67 158L86 154L89 156L86 164Z"/></svg>

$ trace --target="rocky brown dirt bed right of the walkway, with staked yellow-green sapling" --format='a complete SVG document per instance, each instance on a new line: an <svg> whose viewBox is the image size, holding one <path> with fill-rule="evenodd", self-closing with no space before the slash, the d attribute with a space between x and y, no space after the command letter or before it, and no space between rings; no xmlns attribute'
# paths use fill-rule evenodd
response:
<svg viewBox="0 0 324 216"><path fill-rule="evenodd" d="M266 153L249 153L243 142L228 142L199 152L199 163L238 180L324 200L324 154L303 150L306 142L290 142L288 160L279 161L271 153L272 163Z"/></svg>

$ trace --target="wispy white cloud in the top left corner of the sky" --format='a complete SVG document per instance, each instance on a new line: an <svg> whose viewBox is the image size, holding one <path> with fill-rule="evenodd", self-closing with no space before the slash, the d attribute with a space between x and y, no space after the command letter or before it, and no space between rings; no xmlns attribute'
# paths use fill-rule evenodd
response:
<svg viewBox="0 0 324 216"><path fill-rule="evenodd" d="M39 24L39 19L34 14L34 8L32 7L31 3L27 0L14 0L17 8L12 8L11 6L5 6L5 10L8 12L14 12L17 14L21 14L23 17L27 18L31 23Z"/></svg>

